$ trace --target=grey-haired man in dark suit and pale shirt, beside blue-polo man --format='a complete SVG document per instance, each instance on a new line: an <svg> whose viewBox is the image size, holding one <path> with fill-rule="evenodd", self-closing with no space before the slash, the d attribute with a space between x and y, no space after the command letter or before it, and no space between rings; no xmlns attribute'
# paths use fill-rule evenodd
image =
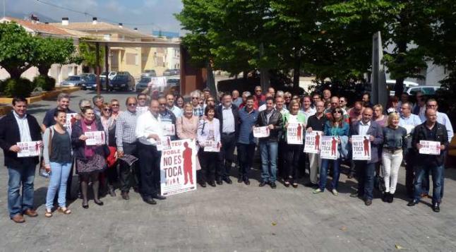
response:
<svg viewBox="0 0 456 252"><path fill-rule="evenodd" d="M239 108L232 104L232 97L228 93L222 96L222 104L215 109L215 118L220 121L220 139L222 141L217 165L217 184L221 185L222 180L227 184L232 184L232 180L229 179L229 170L233 164L234 148L239 133Z"/></svg>

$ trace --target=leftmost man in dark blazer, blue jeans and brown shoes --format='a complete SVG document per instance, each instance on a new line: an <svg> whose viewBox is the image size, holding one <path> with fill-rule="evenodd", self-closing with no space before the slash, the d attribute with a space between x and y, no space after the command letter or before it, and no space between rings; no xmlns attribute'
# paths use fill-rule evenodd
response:
<svg viewBox="0 0 456 252"><path fill-rule="evenodd" d="M19 142L42 140L40 124L35 117L27 114L27 105L24 98L14 98L13 112L0 120L0 147L4 150L5 166L8 167L9 176L8 212L11 220L16 223L25 222L23 215L38 215L33 209L33 181L38 157L18 157Z"/></svg>

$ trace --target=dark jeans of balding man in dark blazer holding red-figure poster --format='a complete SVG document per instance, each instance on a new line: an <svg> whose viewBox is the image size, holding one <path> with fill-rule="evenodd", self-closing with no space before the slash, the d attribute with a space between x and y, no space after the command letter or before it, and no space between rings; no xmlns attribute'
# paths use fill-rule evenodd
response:
<svg viewBox="0 0 456 252"><path fill-rule="evenodd" d="M373 177L376 173L376 163L356 161L356 175L358 176L358 195L364 200L373 198Z"/></svg>

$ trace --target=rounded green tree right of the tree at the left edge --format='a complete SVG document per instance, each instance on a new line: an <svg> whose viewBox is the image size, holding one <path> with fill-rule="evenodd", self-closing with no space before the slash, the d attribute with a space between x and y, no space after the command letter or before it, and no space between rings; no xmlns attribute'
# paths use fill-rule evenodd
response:
<svg viewBox="0 0 456 252"><path fill-rule="evenodd" d="M34 65L40 71L40 75L47 76L52 64L69 64L73 61L76 48L73 40L57 39L52 37L36 37L37 56Z"/></svg>

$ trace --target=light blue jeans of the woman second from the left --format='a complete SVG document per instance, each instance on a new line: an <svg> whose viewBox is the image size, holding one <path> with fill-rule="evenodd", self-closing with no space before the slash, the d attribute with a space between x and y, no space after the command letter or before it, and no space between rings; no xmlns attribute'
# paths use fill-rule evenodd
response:
<svg viewBox="0 0 456 252"><path fill-rule="evenodd" d="M66 208L66 184L71 172L71 164L72 162L51 162L51 176L46 196L47 209L52 209L57 191L59 192L59 207Z"/></svg>

